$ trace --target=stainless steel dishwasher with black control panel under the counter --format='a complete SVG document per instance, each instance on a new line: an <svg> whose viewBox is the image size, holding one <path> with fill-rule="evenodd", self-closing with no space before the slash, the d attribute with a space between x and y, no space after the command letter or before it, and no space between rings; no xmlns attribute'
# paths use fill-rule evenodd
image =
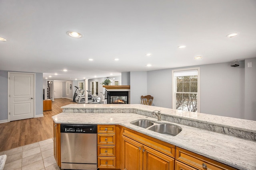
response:
<svg viewBox="0 0 256 170"><path fill-rule="evenodd" d="M61 168L97 170L97 125L60 125Z"/></svg>

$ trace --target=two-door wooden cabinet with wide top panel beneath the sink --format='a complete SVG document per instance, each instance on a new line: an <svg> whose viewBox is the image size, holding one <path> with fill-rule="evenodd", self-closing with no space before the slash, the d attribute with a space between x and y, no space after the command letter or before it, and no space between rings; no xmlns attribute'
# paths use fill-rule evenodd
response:
<svg viewBox="0 0 256 170"><path fill-rule="evenodd" d="M123 128L122 169L174 170L174 158L171 157L174 155L174 146L168 145L157 139ZM158 150L165 150L166 154Z"/></svg>

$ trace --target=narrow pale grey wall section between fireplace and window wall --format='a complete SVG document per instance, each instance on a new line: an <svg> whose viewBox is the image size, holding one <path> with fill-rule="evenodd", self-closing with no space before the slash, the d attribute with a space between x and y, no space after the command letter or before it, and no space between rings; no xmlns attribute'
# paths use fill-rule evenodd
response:
<svg viewBox="0 0 256 170"><path fill-rule="evenodd" d="M147 72L130 72L130 104L140 104L140 96L147 93Z"/></svg>

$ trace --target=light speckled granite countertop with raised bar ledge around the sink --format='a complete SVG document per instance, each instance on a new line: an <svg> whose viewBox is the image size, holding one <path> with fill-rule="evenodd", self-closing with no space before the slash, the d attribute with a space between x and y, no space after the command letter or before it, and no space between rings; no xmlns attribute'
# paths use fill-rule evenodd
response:
<svg viewBox="0 0 256 170"><path fill-rule="evenodd" d="M255 140L242 139L170 121L161 121L161 123L171 123L182 128L182 131L178 135L169 136L130 123L138 119L148 119L159 123L156 116L151 113L153 110L160 110L163 117L170 116L182 118L182 120L193 120L195 122L223 125L226 127L242 129L254 134L256 132L256 121L208 115L204 113L182 112L175 109L137 104L70 104L62 107L62 109L63 113L52 117L55 123L122 125L240 170L256 169ZM71 111L73 113L69 113ZM111 111L114 113L111 113ZM168 119L166 117L165 119Z"/></svg>

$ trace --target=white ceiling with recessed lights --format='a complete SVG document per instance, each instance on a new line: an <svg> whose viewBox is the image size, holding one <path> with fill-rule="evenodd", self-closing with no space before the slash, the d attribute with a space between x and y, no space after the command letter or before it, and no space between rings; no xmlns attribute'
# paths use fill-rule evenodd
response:
<svg viewBox="0 0 256 170"><path fill-rule="evenodd" d="M0 70L53 80L232 62L256 57L256 0L0 0L0 37Z"/></svg>

